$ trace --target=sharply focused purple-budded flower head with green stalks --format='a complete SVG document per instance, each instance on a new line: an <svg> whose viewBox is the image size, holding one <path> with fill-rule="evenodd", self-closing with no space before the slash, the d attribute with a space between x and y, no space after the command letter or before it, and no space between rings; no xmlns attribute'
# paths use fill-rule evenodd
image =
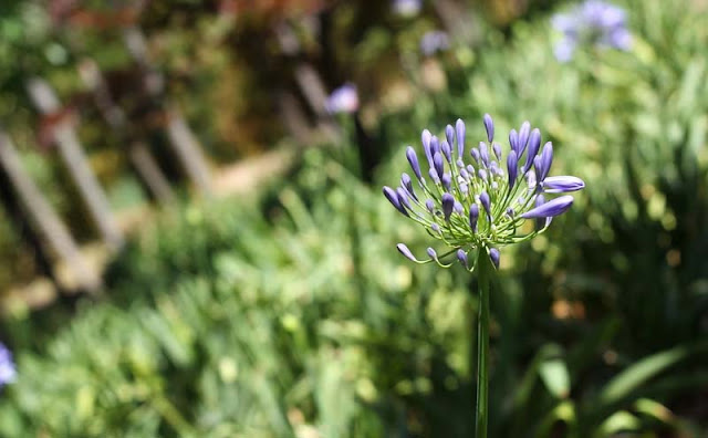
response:
<svg viewBox="0 0 708 438"><path fill-rule="evenodd" d="M418 222L430 236L445 242L450 250L438 254L428 248L428 260L416 259L408 247L398 250L408 259L444 268L447 258L457 259L468 269L469 253L483 250L499 265L499 249L522 242L544 231L551 219L566 211L573 197L564 194L585 187L573 176L549 176L553 161L551 142L541 147L541 132L524 122L509 134L510 150L504 157L494 142L494 124L489 114L483 117L487 142L469 149L471 164L466 161L465 123L448 125L445 138L425 129L423 150L428 164L424 175L416 150L408 146L406 158L414 177L403 174L400 186L384 186L384 196L404 216ZM417 188L414 188L417 186ZM531 225L524 223L531 220ZM455 255L452 255L455 254Z"/></svg>

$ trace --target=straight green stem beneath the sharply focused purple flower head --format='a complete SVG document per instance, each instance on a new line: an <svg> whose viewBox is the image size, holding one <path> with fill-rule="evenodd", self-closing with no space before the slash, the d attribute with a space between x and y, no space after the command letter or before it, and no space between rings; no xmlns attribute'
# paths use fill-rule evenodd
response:
<svg viewBox="0 0 708 438"><path fill-rule="evenodd" d="M485 248L477 257L479 317L477 319L477 438L487 438L489 418L489 284L493 272Z"/></svg>

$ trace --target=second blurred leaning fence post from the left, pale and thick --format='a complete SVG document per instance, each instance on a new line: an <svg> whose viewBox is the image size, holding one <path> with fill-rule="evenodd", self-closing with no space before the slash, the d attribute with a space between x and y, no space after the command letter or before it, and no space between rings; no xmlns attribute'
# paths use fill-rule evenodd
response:
<svg viewBox="0 0 708 438"><path fill-rule="evenodd" d="M51 116L61 109L54 91L45 81L32 79L27 86L30 97L42 114ZM119 250L124 243L123 234L113 218L106 195L88 165L69 117L58 121L52 127L52 134L60 155L83 196L103 240L111 250Z"/></svg>

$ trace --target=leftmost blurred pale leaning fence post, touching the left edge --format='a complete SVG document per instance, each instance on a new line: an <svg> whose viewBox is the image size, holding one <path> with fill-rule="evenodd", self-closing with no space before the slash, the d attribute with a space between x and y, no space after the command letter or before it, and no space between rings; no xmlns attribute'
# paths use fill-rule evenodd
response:
<svg viewBox="0 0 708 438"><path fill-rule="evenodd" d="M1 128L0 166L30 216L30 222L40 230L51 250L69 265L77 288L90 293L97 292L101 286L98 275L88 268L69 229L25 173L14 145ZM45 259L49 261L50 258ZM49 270L46 273L54 280L56 288L63 289L55 280L53 268L49 267Z"/></svg>

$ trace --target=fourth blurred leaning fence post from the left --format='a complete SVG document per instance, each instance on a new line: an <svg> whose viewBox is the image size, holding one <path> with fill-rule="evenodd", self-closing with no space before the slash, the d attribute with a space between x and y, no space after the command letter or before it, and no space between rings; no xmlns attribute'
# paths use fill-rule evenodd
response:
<svg viewBox="0 0 708 438"><path fill-rule="evenodd" d="M123 39L133 60L143 70L148 94L153 97L162 96L165 80L153 66L143 31L135 25L128 27L123 31ZM179 109L169 103L166 106L167 136L175 154L199 190L207 195L211 194L211 174L197 138L187 126Z"/></svg>

